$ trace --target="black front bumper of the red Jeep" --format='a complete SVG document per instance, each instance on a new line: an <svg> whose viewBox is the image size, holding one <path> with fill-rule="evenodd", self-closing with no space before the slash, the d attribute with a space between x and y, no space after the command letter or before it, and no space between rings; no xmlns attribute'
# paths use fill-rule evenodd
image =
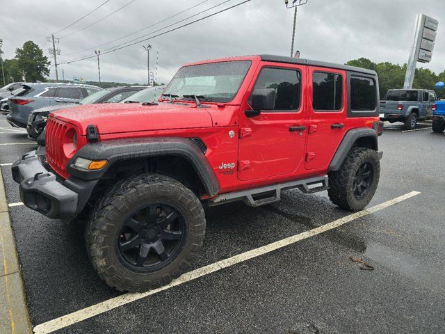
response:
<svg viewBox="0 0 445 334"><path fill-rule="evenodd" d="M45 165L44 147L24 154L13 164L13 179L20 184L20 198L24 205L49 218L70 220L86 205L97 182L71 177L58 180Z"/></svg>

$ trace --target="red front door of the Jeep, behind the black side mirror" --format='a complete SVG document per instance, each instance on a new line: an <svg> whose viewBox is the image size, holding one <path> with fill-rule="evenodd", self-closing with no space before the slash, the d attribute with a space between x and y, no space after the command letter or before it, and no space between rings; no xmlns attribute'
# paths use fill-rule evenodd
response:
<svg viewBox="0 0 445 334"><path fill-rule="evenodd" d="M250 97L241 106L238 178L257 180L293 173L305 157L307 116L302 97L306 67L262 63L250 91L274 88L275 109L248 118Z"/></svg>

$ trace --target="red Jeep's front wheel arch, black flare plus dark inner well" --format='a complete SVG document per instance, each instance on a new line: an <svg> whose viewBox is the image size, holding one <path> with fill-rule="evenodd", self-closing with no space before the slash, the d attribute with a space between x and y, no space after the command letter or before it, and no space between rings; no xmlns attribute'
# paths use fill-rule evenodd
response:
<svg viewBox="0 0 445 334"><path fill-rule="evenodd" d="M101 170L79 170L74 168L77 157L107 160L108 164ZM173 170L171 166L175 164L184 169ZM110 179L117 172L140 168L144 173L154 172L157 168L176 179L184 176L194 182L199 180L202 192L207 196L215 196L220 191L220 184L209 161L197 144L188 138L154 137L90 143L77 151L67 164L67 172L83 180Z"/></svg>

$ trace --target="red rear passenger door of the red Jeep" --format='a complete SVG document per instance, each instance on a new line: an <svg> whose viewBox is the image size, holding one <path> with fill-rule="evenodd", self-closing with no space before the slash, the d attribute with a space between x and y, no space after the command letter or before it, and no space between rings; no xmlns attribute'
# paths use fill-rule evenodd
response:
<svg viewBox="0 0 445 334"><path fill-rule="evenodd" d="M306 169L327 168L346 132L346 72L309 67Z"/></svg>

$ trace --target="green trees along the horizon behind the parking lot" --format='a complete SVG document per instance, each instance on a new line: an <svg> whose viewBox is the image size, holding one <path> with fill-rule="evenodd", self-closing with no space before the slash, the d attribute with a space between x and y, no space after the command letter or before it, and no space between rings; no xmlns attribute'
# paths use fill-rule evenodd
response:
<svg viewBox="0 0 445 334"><path fill-rule="evenodd" d="M4 84L22 81L22 77L25 77L27 82L47 81L49 80L50 64L51 62L47 56L44 56L43 50L33 41L29 40L25 42L21 48L15 50L14 58L3 61L6 81ZM380 86L380 99L382 100L385 99L389 89L403 88L407 68L406 64L399 65L389 62L374 63L368 58L358 58L348 61L346 65L364 67L377 72ZM0 82L3 84L2 79L3 78L0 77ZM438 97L445 99L445 89L437 90L435 88L437 81L445 81L445 70L439 74L435 74L435 72L426 68L416 68L413 88L435 90ZM115 82L95 82L95 84L102 88L127 85Z"/></svg>

